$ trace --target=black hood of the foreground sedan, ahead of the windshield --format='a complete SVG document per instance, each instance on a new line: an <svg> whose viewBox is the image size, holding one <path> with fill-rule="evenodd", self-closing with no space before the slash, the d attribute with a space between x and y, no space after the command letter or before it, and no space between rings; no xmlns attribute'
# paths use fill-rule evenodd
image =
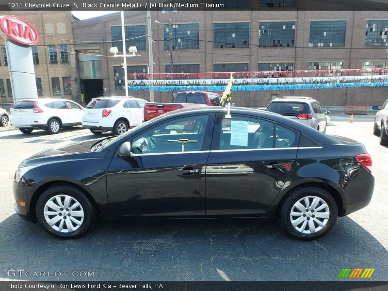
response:
<svg viewBox="0 0 388 291"><path fill-rule="evenodd" d="M85 158L90 153L90 148L97 142L98 140L93 139L68 146L50 148L27 158L21 162L20 166L26 167L50 162L79 160Z"/></svg>

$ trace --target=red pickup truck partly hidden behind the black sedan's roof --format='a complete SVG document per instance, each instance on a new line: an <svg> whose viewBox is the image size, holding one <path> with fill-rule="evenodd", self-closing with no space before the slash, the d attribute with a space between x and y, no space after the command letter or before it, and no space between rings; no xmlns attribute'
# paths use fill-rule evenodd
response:
<svg viewBox="0 0 388 291"><path fill-rule="evenodd" d="M148 121L161 114L187 107L218 106L222 94L213 92L178 92L174 103L146 103L144 120Z"/></svg>

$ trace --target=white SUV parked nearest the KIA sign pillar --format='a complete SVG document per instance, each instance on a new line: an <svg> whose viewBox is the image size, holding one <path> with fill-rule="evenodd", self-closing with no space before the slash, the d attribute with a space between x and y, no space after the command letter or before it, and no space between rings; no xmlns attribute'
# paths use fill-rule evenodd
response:
<svg viewBox="0 0 388 291"><path fill-rule="evenodd" d="M45 129L50 134L61 128L81 125L83 107L67 99L38 98L16 101L11 106L11 125L23 133Z"/></svg>

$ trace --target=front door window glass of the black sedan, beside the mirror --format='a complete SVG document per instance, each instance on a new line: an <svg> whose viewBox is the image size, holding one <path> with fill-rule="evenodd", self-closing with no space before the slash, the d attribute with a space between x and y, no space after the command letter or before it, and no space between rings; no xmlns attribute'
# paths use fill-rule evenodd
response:
<svg viewBox="0 0 388 291"><path fill-rule="evenodd" d="M134 137L134 154L200 151L208 124L208 115L188 116L163 123Z"/></svg>

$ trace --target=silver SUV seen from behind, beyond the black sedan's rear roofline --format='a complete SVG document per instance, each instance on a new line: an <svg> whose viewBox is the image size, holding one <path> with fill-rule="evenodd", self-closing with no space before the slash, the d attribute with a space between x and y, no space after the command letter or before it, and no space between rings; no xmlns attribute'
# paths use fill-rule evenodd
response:
<svg viewBox="0 0 388 291"><path fill-rule="evenodd" d="M325 115L330 114L330 111L322 110L317 100L296 96L275 98L268 104L266 110L287 116L323 133L326 132L327 124Z"/></svg>

